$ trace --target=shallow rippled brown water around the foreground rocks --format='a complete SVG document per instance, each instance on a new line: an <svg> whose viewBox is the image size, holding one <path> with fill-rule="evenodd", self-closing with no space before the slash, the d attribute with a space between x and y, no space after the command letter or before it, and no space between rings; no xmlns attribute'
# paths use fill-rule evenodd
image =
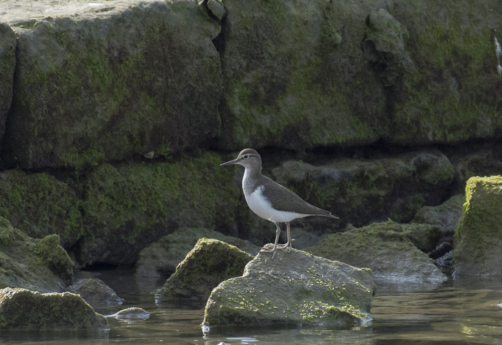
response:
<svg viewBox="0 0 502 345"><path fill-rule="evenodd" d="M364 327L332 329L231 327L205 336L200 323L203 309L189 305L156 305L152 293L160 282L140 284L128 271L98 273L124 304L97 307L113 314L127 307L151 313L145 321L108 319L110 330L98 334L2 332L0 343L16 344L417 344L461 345L502 343L502 284L500 281L449 280L436 288L427 285L381 285L373 298L373 321ZM404 292L407 291L407 292ZM411 291L411 292L410 292Z"/></svg>

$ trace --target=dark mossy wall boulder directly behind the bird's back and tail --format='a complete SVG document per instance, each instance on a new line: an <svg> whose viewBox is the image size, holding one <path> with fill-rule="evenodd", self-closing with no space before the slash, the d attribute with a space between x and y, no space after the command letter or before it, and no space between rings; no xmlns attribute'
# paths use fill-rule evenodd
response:
<svg viewBox="0 0 502 345"><path fill-rule="evenodd" d="M272 175L308 202L340 216L341 226L363 226L387 218L408 222L425 204L440 203L449 192L454 168L440 151L424 150L318 166L288 160Z"/></svg>

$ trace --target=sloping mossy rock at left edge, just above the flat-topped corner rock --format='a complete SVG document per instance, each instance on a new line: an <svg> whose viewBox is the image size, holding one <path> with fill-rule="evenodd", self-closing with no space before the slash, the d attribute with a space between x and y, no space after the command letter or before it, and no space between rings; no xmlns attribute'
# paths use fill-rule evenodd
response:
<svg viewBox="0 0 502 345"><path fill-rule="evenodd" d="M0 217L0 287L62 291L73 278L73 262L59 237L36 240Z"/></svg>

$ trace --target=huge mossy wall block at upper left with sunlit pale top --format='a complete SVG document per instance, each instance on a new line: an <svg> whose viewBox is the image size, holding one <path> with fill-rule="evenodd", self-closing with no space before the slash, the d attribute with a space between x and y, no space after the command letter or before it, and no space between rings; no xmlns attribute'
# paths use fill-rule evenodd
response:
<svg viewBox="0 0 502 345"><path fill-rule="evenodd" d="M65 2L47 18L16 6L2 12L18 38L3 159L79 169L217 135L219 25L197 2Z"/></svg>

